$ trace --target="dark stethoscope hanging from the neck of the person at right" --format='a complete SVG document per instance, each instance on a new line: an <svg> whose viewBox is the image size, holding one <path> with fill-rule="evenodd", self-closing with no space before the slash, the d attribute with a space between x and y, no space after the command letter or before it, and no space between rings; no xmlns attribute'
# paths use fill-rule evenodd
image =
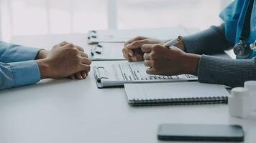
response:
<svg viewBox="0 0 256 143"><path fill-rule="evenodd" d="M250 44L247 41L250 34L250 18L252 14L253 1L254 0L249 1L247 13L245 15L245 21L242 28L242 33L239 37L239 43L234 45L233 47L234 54L236 54L238 59L247 59L252 55L253 51L256 50L256 40L254 44Z"/></svg>

